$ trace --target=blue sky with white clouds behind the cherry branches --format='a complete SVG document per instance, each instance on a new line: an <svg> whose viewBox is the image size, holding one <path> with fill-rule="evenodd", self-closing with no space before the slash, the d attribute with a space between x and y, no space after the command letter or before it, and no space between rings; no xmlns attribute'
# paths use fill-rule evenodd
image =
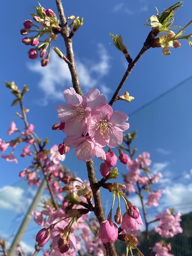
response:
<svg viewBox="0 0 192 256"><path fill-rule="evenodd" d="M2 21L6 23L2 26L3 40L0 42L2 49L0 138L5 141L11 139L7 135L11 120L14 120L21 129L23 127L21 120L15 116L15 112L19 109L10 106L13 97L4 86L4 80L14 80L20 88L23 84L29 85L30 92L26 94L24 100L25 107L31 109L28 121L34 124L35 132L40 138L48 136L49 145L52 147L53 144L61 143L63 139L63 134L52 131L51 126L58 122L55 108L59 103L64 104L62 92L63 89L71 86L70 74L66 63L61 61L54 52L51 54L49 65L44 68L40 67L40 59L28 58L27 52L30 47L21 42L24 36L20 35L20 29L23 28L24 20L31 19L30 13L38 2L33 0L20 0L20 4L11 2L11 8L5 3L2 8ZM45 8L56 11L54 1L49 2L41 1L40 3ZM143 24L146 23L145 19L156 14L154 6L161 11L175 4L175 1L169 1L169 5L165 0L122 0L118 3L114 0L68 1L63 4L66 16L74 14L84 17L84 25L73 39L83 92L87 93L90 88L97 87L106 95L108 101L127 67L123 54L109 44L112 43L109 33L122 34L124 43L131 57L134 58L150 31L150 28ZM176 13L175 25L184 26L192 19L191 7L191 1L185 1L184 6L180 7ZM186 33L191 31L192 26L187 28ZM65 54L62 39L54 42L52 46L60 48ZM192 49L187 41L181 41L180 48L171 49L170 56L163 56L161 51L161 48L150 49L144 54L122 89L122 94L127 90L135 99L131 104L116 103L115 110L122 110L129 115L191 76ZM192 208L187 196L192 191L191 93L191 80L188 80L129 118L129 131L138 131L138 139L135 140L134 147L138 148L138 153L149 151L152 170L163 173L162 184L154 187L154 189L167 189L167 194L162 197L162 208L171 202L183 213L191 211ZM22 147L20 149L22 150ZM20 152L18 151L15 155L19 157ZM30 195L30 198L34 194L32 188L26 193L28 187L24 180L19 181L18 176L19 172L28 166L29 160L18 158L18 161L19 163L15 164L0 159L0 216L5 220L3 225L0 225L0 235L4 237L15 231L19 221L14 222L14 225L12 223L14 218L23 212L23 201L26 205L29 204L30 199L26 199L26 194ZM95 163L99 179L100 162L96 160ZM72 150L64 164L78 176L86 178L85 164L74 161ZM126 172L122 165L118 170L121 173ZM108 198L110 202L111 195ZM135 204L139 204L136 200L134 198ZM158 211L156 208L150 210L151 213L156 211ZM35 231L38 231L38 227L35 227ZM32 227L32 231L28 231L28 235L23 239L26 244L29 244L29 241L30 245L33 244L32 239L29 239L33 233Z"/></svg>

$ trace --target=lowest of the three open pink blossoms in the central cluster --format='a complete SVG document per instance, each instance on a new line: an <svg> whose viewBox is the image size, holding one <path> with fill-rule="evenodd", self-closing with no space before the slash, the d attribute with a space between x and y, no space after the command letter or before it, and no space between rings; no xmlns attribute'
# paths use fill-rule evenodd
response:
<svg viewBox="0 0 192 256"><path fill-rule="evenodd" d="M99 144L94 143L90 136L79 137L74 140L72 138L73 136L68 136L63 141L68 147L75 148L75 155L78 160L88 162L95 156L100 160L106 159L105 151Z"/></svg>

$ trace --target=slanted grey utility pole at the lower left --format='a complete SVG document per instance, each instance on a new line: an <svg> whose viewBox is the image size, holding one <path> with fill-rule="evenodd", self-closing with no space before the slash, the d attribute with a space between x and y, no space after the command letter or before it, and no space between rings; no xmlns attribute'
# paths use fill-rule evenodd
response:
<svg viewBox="0 0 192 256"><path fill-rule="evenodd" d="M32 211L35 210L36 206L38 205L39 203L39 200L43 194L43 191L45 189L45 186L46 186L47 182L45 179L43 179L43 181L41 182L41 185L39 186L39 189L38 191L36 192L36 195L33 199L33 202L31 203L29 209L28 209L28 212L26 213L24 219L23 219L23 222L21 223L21 226L19 228L19 230L17 231L17 234L15 235L14 237L14 240L10 246L10 249L8 250L8 253L7 255L8 256L14 256L15 255L15 251L16 251L16 246L17 244L19 244L23 238L23 235L26 231L26 228L28 227L30 221L31 221L31 218L32 218Z"/></svg>

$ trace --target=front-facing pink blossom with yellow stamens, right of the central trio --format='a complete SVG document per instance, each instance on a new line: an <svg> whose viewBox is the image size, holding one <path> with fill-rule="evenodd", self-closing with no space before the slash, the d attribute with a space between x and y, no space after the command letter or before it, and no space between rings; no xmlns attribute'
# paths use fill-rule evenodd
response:
<svg viewBox="0 0 192 256"><path fill-rule="evenodd" d="M123 141L123 131L129 128L125 123L128 116L122 111L115 111L108 104L100 104L92 109L88 118L88 133L92 140L103 147L115 148Z"/></svg>

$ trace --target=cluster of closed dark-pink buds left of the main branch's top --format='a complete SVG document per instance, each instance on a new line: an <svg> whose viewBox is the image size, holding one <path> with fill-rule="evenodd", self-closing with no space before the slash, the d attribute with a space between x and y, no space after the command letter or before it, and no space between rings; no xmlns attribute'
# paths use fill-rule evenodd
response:
<svg viewBox="0 0 192 256"><path fill-rule="evenodd" d="M39 4L40 5L40 4ZM24 28L20 30L22 35L35 32L36 35L25 37L22 39L22 42L26 45L31 45L35 48L29 50L29 58L36 59L38 58L38 51L40 51L40 57L44 58L41 60L41 66L45 67L49 63L50 57L50 43L51 40L57 40L57 34L60 32L59 20L57 19L56 14L51 9L44 9L43 6L35 7L36 13L32 13L33 21L38 22L42 28L38 25L35 25L31 20L25 20L23 23ZM36 28L36 30L32 30ZM45 40L39 40L43 35L49 34L49 37ZM39 42L42 42L39 44Z"/></svg>

